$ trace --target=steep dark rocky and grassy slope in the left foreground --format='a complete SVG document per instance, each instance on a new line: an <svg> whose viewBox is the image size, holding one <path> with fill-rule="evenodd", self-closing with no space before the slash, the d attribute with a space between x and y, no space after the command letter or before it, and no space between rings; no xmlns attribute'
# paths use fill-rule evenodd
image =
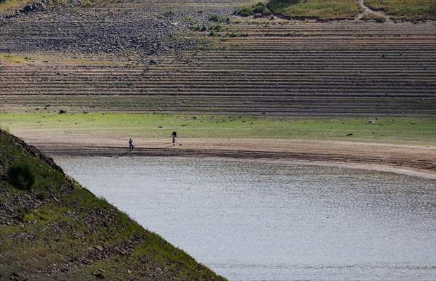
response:
<svg viewBox="0 0 436 281"><path fill-rule="evenodd" d="M0 131L0 280L224 280Z"/></svg>

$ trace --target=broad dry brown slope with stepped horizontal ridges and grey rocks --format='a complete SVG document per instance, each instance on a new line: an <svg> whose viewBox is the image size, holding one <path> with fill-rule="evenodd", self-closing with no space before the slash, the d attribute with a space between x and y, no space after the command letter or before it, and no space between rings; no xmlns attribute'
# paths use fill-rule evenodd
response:
<svg viewBox="0 0 436 281"><path fill-rule="evenodd" d="M231 15L241 3L71 2L2 15L1 110L436 114L435 22Z"/></svg>

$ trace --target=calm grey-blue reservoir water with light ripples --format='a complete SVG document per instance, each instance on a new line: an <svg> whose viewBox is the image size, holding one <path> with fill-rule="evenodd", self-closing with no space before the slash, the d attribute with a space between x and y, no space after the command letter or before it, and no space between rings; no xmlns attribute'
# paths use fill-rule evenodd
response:
<svg viewBox="0 0 436 281"><path fill-rule="evenodd" d="M229 280L434 280L436 181L232 159L56 157Z"/></svg>

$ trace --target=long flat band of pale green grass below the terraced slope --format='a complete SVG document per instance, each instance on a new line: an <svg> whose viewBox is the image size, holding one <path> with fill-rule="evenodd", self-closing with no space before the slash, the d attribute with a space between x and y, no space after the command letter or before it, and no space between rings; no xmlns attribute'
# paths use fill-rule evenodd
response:
<svg viewBox="0 0 436 281"><path fill-rule="evenodd" d="M239 117L144 114L2 114L0 126L14 131L51 131L89 136L167 138L281 138L434 145L435 118Z"/></svg>

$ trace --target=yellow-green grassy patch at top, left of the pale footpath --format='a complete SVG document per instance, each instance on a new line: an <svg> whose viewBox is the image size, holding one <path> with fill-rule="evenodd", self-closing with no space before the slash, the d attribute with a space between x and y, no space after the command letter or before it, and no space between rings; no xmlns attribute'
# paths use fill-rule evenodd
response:
<svg viewBox="0 0 436 281"><path fill-rule="evenodd" d="M290 18L322 20L351 19L362 11L356 0L270 0L267 8Z"/></svg>

